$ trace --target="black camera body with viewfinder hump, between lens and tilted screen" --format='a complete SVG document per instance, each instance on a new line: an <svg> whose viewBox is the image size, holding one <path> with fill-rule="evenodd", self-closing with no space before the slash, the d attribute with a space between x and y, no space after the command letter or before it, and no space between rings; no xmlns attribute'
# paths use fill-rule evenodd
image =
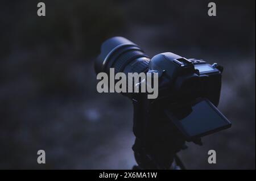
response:
<svg viewBox="0 0 256 181"><path fill-rule="evenodd" d="M158 99L164 98L175 103L201 97L218 106L223 70L221 66L167 52L152 57L148 69L158 72Z"/></svg>

